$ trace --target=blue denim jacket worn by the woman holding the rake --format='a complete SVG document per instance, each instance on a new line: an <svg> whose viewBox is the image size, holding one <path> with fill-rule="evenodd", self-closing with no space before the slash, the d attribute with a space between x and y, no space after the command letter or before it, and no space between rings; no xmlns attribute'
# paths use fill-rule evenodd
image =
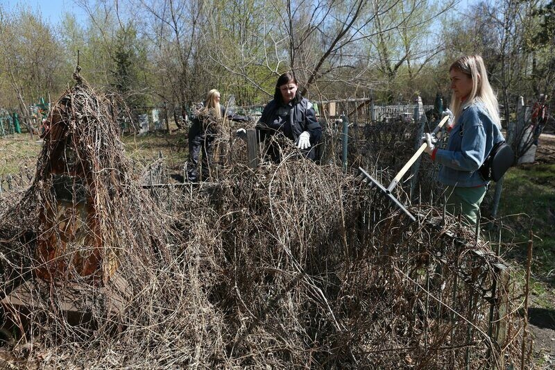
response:
<svg viewBox="0 0 555 370"><path fill-rule="evenodd" d="M440 163L438 181L445 185L477 187L486 185L479 174L494 144L504 140L490 119L484 104L475 101L463 109L449 134L447 149L437 149L434 160Z"/></svg>

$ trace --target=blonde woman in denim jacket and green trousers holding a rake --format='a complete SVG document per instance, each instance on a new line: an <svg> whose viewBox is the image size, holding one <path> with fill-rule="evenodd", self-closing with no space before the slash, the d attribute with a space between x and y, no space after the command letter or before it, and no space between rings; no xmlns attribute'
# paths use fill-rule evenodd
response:
<svg viewBox="0 0 555 370"><path fill-rule="evenodd" d="M426 152L432 160L441 164L438 181L445 185L449 195L447 207L453 214L461 212L474 226L488 187L488 181L477 170L493 146L504 140L499 106L481 56L457 59L449 74L454 124L449 128L447 148L438 149L429 133L422 137L422 142L427 142Z"/></svg>

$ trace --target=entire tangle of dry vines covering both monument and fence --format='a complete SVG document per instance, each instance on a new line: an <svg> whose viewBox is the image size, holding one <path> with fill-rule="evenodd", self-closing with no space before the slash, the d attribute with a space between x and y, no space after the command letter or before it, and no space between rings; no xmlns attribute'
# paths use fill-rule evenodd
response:
<svg viewBox="0 0 555 370"><path fill-rule="evenodd" d="M4 362L456 369L514 359L518 333L495 336L490 323L502 261L448 215L421 205L409 223L338 167L294 158L232 161L217 183L174 190L180 206L161 208L130 174L102 96L78 83L51 121L33 185L0 217L4 294L26 286L33 301L24 319L3 301L15 323ZM79 287L86 322L62 307L68 287Z"/></svg>

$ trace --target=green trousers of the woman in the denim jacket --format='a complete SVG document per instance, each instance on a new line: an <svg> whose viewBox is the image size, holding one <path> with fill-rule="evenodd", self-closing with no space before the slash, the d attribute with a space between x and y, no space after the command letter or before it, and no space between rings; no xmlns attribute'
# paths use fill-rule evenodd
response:
<svg viewBox="0 0 555 370"><path fill-rule="evenodd" d="M480 204L486 196L487 186L459 187L447 186L447 212L463 215L470 226L476 226L480 215Z"/></svg>

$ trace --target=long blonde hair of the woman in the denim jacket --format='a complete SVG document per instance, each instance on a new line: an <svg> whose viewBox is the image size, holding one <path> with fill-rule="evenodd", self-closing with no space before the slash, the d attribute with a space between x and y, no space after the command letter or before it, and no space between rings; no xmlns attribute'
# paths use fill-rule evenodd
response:
<svg viewBox="0 0 555 370"><path fill-rule="evenodd" d="M497 103L497 96L495 96L495 93L493 92L493 89L488 81L488 73L486 72L484 59L477 54L462 56L457 59L451 67L449 67L449 72L453 69L457 69L472 78L472 91L470 92L470 95L468 95L466 101L456 99L454 94L451 97L450 110L453 112L454 116L459 117L463 108L470 106L470 104L475 103L476 101L481 101L493 123L497 127L501 128L501 119L499 119L499 103Z"/></svg>

